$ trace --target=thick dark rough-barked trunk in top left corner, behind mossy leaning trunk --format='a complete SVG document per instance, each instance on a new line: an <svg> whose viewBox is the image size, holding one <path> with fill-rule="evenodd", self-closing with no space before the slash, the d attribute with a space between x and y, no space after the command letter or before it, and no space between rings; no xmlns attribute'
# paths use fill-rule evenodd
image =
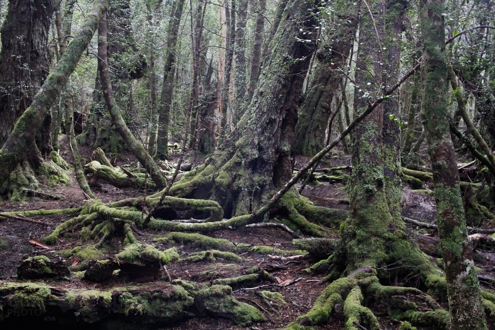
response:
<svg viewBox="0 0 495 330"><path fill-rule="evenodd" d="M47 42L52 14L52 0L8 3L0 31L0 147L48 76ZM48 117L43 119L43 135L38 132L36 140L46 153L50 151L50 121Z"/></svg>

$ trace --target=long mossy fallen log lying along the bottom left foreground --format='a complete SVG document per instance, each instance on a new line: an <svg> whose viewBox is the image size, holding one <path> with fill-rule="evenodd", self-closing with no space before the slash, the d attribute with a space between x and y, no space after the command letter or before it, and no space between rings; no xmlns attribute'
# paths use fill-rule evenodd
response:
<svg viewBox="0 0 495 330"><path fill-rule="evenodd" d="M19 329L19 322L29 322L30 316L32 322L45 316L63 318L64 327L86 323L95 329L105 322L133 329L156 327L197 316L228 318L241 327L265 321L256 308L237 301L230 286L209 283L155 282L99 290L2 282L0 296L0 324L5 329Z"/></svg>

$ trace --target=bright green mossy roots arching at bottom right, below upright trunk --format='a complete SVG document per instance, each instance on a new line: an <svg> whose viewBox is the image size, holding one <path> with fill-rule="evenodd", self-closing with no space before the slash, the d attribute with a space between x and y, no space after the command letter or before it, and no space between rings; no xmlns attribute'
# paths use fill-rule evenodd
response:
<svg viewBox="0 0 495 330"><path fill-rule="evenodd" d="M431 296L414 287L384 286L379 283L375 274L370 267L363 267L352 272L347 278L340 278L330 283L322 291L312 309L300 316L296 322L289 324L286 329L300 330L322 325L332 316L335 307L343 302L346 329L382 329L371 309L362 305L363 294L367 297L366 301L375 301L375 304L388 306L389 313L394 313L395 319L409 321L418 326L435 325L440 329L448 329L449 313ZM422 301L426 304L427 311L419 311L418 305L407 296ZM490 295L487 294L486 297L490 298ZM488 302L485 306L490 308L491 300L486 300ZM399 308L394 312L393 307Z"/></svg>

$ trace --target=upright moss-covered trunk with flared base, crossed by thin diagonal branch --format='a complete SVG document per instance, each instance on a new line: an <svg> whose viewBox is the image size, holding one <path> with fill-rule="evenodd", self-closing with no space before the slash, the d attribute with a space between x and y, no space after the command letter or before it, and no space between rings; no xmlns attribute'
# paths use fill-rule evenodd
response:
<svg viewBox="0 0 495 330"><path fill-rule="evenodd" d="M381 86L393 85L398 80L400 53L394 40L401 32L404 6L402 2L375 3L369 11L376 15L376 25L367 8L364 9L355 81L367 88L354 98L357 103L354 116L365 110L375 95L380 95ZM389 38L389 31L393 31L396 38ZM399 130L396 121L390 119L397 113L397 95L393 94L353 131L350 212L341 227L347 262L345 272L378 267L378 276L388 278L419 271L425 281L438 272L428 257L407 241L400 217ZM397 268L383 273L392 263L396 263ZM337 267L333 276L343 270Z"/></svg>

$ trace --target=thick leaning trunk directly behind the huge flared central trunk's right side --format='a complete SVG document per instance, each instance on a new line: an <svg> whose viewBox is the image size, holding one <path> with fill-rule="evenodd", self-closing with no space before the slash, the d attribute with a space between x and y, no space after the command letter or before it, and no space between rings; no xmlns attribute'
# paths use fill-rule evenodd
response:
<svg viewBox="0 0 495 330"><path fill-rule="evenodd" d="M296 154L313 157L326 145L325 130L328 126L334 91L339 87L346 54L354 45L357 9L346 17L346 23L336 31L332 43L320 48L316 53L317 66L299 110L296 125Z"/></svg>

